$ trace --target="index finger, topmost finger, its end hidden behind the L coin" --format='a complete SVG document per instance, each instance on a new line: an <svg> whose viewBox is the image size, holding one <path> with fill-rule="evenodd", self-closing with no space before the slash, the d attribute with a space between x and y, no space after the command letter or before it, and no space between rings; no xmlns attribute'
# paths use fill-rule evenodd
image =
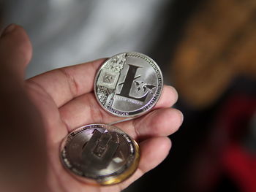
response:
<svg viewBox="0 0 256 192"><path fill-rule="evenodd" d="M27 82L42 88L61 107L77 96L93 91L94 77L105 58L67 66L32 77Z"/></svg>

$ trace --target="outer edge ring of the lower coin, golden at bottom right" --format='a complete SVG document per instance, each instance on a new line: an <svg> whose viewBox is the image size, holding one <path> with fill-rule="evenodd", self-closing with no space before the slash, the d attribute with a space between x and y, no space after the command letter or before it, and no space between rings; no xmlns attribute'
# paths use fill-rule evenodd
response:
<svg viewBox="0 0 256 192"><path fill-rule="evenodd" d="M132 153L129 155L129 157L131 158L129 161L132 161L132 163L129 164L129 167L125 166L124 169L119 169L118 171L105 176L103 175L98 177L89 177L88 175L83 174L83 172L80 172L80 170L72 166L69 159L67 158L66 147L69 144L69 142L72 140L72 138L74 138L77 134L79 134L81 131L91 129L91 128L105 128L108 131L117 131L118 134L122 134L125 137L125 139L128 138L127 142L129 143L129 145L132 144ZM132 157L132 155L134 156ZM60 158L64 168L67 169L67 171L71 173L73 176L78 178L78 180L82 180L83 182L94 184L94 185L95 184L96 185L114 185L126 180L136 171L136 169L138 168L138 163L140 161L140 150L139 150L138 143L135 142L134 139L129 137L128 134L126 134L124 131L117 128L116 126L110 126L107 124L90 124L90 125L82 126L80 128L76 128L74 131L69 133L67 137L64 138L64 140L61 142Z"/></svg>

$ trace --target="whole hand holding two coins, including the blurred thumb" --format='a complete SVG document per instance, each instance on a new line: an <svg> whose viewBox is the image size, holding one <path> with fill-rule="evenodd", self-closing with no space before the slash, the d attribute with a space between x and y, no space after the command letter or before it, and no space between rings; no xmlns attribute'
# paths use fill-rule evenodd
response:
<svg viewBox="0 0 256 192"><path fill-rule="evenodd" d="M12 104L11 107L6 108L10 109L10 114L14 119L15 115L19 116L17 119L20 117L24 119L25 114L25 119L29 117L33 120L32 123L24 122L20 125L23 131L20 131L16 138L29 134L34 139L29 142L29 145L33 145L31 153L24 153L25 155L19 158L29 162L33 161L32 167L46 167L42 170L30 170L28 167L31 174L23 176L28 177L23 178L24 180L34 181L35 175L38 174L37 177L41 178L41 183L35 182L37 185L34 187L37 191L38 189L45 190L45 187L48 191L121 191L145 172L160 164L167 156L171 146L167 136L177 131L181 126L183 116L178 110L170 108L176 102L178 95L174 88L165 85L162 96L151 112L140 118L115 124L139 142L141 158L135 174L123 183L105 187L87 185L75 180L61 165L59 159L61 140L70 131L80 126L121 120L102 110L94 96L94 76L105 59L55 69L24 81L23 72L31 58L31 45L23 28L14 26L12 31L2 34L0 50L1 74L10 74L8 80L12 82L7 86L7 81L1 78L1 81L4 81L1 82L1 87L7 87L6 89L11 92L20 91L20 96L15 97L18 104ZM10 95L8 91L5 91L5 94ZM1 99L1 103L7 102L9 98L4 99ZM19 108L18 112L14 112L17 108ZM1 109L1 112L3 110ZM1 126L10 127L7 124L8 120ZM12 126L15 131L17 129L15 129L15 123ZM22 151L23 146L19 150ZM17 161L20 162L20 159ZM8 162L4 163L6 167L10 166ZM2 177L1 173L0 176ZM20 184L18 187L26 188L25 184Z"/></svg>

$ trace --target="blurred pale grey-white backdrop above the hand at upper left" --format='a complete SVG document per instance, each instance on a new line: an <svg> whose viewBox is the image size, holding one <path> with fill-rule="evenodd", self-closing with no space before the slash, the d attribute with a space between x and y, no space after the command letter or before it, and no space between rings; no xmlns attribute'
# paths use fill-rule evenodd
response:
<svg viewBox="0 0 256 192"><path fill-rule="evenodd" d="M170 0L8 0L4 25L29 33L34 54L27 77L124 51L146 53Z"/></svg>

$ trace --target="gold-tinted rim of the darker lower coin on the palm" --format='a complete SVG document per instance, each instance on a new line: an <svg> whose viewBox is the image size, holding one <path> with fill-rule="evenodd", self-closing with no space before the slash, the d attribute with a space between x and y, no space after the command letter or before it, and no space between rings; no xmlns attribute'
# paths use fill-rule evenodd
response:
<svg viewBox="0 0 256 192"><path fill-rule="evenodd" d="M125 169L124 172L121 172L118 175L110 174L106 177L101 177L100 179L94 179L94 178L86 177L84 175L80 175L76 172L73 172L72 166L70 168L68 167L66 160L68 161L68 163L69 163L69 160L67 158L63 157L64 147L67 146L69 144L70 140L73 137L75 137L75 135L79 134L81 131L87 130L89 128L94 128L91 126L99 126L98 128L105 128L110 131L118 130L118 131L120 131L121 134L125 134L131 140L132 147L134 148L135 157L133 158L132 164L129 167L127 167L127 169ZM113 130L111 130L110 127L112 127ZM72 134L74 134L74 135L72 136ZM74 176L78 180L81 180L83 182L86 182L86 183L89 183L92 185L115 185L117 183L123 182L124 180L127 180L137 170L138 164L140 161L140 148L139 148L138 143L134 139L132 139L132 137L130 137L129 134L125 133L120 128L118 128L116 126L108 125L108 124L103 124L103 123L93 123L93 124L89 124L86 126L81 126L79 128L75 128L74 131L70 132L66 137L64 137L64 139L61 142L59 156L61 158L62 166L64 166L64 168L67 169L68 172L71 173L72 176Z"/></svg>

